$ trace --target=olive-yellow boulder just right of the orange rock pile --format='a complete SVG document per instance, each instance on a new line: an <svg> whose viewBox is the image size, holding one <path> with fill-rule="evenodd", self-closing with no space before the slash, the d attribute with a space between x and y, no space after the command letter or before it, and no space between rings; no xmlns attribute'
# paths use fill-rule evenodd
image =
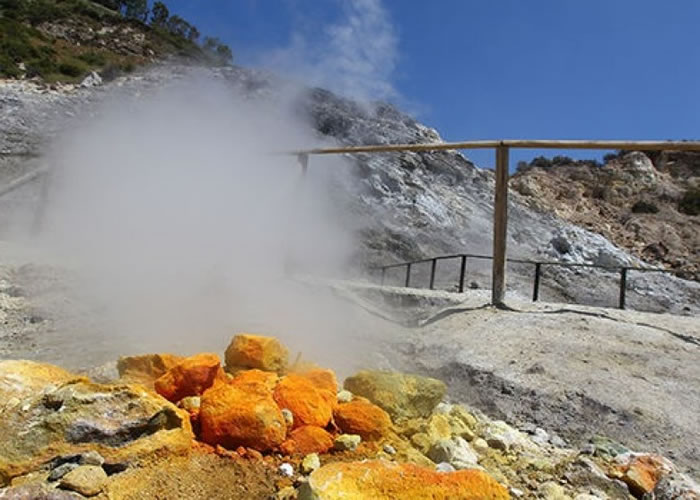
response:
<svg viewBox="0 0 700 500"><path fill-rule="evenodd" d="M447 392L444 382L394 372L362 371L343 387L386 411L393 420L429 416Z"/></svg>

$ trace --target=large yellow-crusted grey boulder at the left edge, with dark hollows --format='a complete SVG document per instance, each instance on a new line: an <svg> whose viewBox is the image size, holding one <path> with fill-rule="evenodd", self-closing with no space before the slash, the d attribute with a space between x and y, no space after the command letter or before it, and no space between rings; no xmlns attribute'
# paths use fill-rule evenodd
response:
<svg viewBox="0 0 700 500"><path fill-rule="evenodd" d="M46 384L49 373L58 383ZM192 443L187 414L140 385L93 384L28 362L0 363L0 380L3 396L17 402L0 412L0 484L61 456L93 450L124 463L161 450L182 453Z"/></svg>

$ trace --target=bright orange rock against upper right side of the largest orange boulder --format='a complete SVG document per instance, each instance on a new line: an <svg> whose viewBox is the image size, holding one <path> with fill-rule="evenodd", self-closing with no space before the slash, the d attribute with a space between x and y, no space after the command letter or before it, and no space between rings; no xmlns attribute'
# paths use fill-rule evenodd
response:
<svg viewBox="0 0 700 500"><path fill-rule="evenodd" d="M302 375L289 374L275 387L274 398L280 408L294 415L294 427L315 425L325 427L333 416L333 405L327 391L319 391Z"/></svg>

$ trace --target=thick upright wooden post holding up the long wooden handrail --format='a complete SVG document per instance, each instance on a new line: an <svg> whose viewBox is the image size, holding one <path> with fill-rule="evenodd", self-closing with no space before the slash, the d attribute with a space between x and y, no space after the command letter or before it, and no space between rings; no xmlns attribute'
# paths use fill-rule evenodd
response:
<svg viewBox="0 0 700 500"><path fill-rule="evenodd" d="M493 212L493 269L491 304L503 304L506 295L506 238L508 235L508 147L496 148L496 194Z"/></svg>

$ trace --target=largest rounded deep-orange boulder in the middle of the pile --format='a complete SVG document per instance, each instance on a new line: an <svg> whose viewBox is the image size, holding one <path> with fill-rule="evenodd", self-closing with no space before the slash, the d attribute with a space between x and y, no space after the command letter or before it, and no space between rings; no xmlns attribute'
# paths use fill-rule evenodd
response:
<svg viewBox="0 0 700 500"><path fill-rule="evenodd" d="M213 446L258 451L277 448L285 439L284 417L270 393L216 382L202 395L200 436Z"/></svg>

